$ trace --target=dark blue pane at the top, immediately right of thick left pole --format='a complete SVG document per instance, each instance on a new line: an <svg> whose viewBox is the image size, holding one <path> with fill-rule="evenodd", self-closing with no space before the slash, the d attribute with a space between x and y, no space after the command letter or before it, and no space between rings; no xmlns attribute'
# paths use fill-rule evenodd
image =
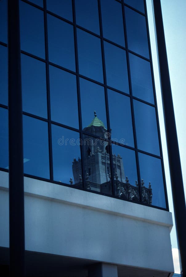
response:
<svg viewBox="0 0 186 277"><path fill-rule="evenodd" d="M20 1L21 50L45 58L43 11Z"/></svg>

